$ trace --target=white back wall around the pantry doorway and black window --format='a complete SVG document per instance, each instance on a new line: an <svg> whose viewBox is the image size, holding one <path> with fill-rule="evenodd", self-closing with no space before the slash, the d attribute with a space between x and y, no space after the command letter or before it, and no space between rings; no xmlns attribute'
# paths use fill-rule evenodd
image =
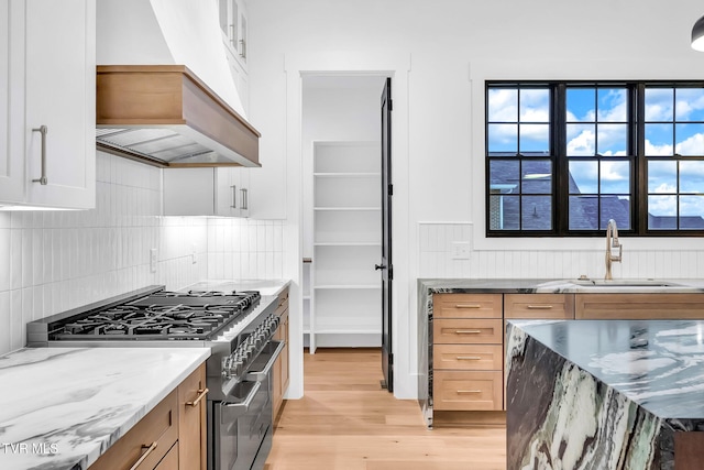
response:
<svg viewBox="0 0 704 470"><path fill-rule="evenodd" d="M414 360L403 358L416 357L417 277L598 275L601 239L485 239L483 80L701 78L704 55L689 46L701 14L696 0L251 2L250 114L263 134L262 161L284 168L260 176L287 188L283 217L292 229L300 229L301 219L300 81L295 75L308 68L300 64L359 70L362 58L409 57L407 75L393 68L404 85L394 95L394 117L403 117L395 121L400 128L394 140L397 397L416 393ZM429 240L454 226L466 228L459 237L471 241L471 259L450 261L446 269L447 245ZM421 233L430 239L420 239ZM694 261L704 252L698 239L624 242L624 263L615 275L703 274ZM301 245L292 242L290 248L298 250L286 255L290 273L299 278L293 266L300 262ZM296 308L294 323L300 315Z"/></svg>

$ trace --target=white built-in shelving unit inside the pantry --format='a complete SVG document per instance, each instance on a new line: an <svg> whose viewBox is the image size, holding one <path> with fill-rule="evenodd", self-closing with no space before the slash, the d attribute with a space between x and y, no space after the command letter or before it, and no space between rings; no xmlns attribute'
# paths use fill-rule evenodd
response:
<svg viewBox="0 0 704 470"><path fill-rule="evenodd" d="M314 144L310 353L318 347L378 347L382 335L378 142Z"/></svg>

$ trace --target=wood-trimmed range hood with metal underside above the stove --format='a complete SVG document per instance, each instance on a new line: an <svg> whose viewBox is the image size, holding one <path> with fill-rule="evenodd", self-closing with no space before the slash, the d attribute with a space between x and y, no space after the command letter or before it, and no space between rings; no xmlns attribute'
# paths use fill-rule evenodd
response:
<svg viewBox="0 0 704 470"><path fill-rule="evenodd" d="M160 167L261 166L261 134L183 65L97 67L96 145Z"/></svg>

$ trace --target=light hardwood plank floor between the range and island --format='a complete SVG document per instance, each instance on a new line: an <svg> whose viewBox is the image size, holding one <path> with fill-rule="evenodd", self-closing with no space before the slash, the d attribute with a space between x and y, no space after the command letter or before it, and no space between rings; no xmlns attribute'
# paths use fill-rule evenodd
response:
<svg viewBox="0 0 704 470"><path fill-rule="evenodd" d="M418 402L382 390L377 349L305 352L265 470L503 470L504 426L426 428Z"/></svg>

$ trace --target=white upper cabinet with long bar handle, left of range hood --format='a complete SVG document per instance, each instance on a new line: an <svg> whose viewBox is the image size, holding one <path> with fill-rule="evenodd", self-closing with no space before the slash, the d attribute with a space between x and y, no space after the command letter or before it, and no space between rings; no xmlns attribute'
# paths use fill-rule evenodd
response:
<svg viewBox="0 0 704 470"><path fill-rule="evenodd" d="M96 0L4 1L0 24L0 206L95 207Z"/></svg>

